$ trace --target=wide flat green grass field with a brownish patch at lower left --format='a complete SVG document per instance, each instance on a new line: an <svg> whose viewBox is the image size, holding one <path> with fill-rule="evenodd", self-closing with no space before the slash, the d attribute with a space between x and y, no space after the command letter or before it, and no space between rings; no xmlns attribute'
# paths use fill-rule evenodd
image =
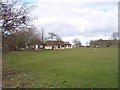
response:
<svg viewBox="0 0 120 90"><path fill-rule="evenodd" d="M3 87L117 88L117 48L3 53Z"/></svg>

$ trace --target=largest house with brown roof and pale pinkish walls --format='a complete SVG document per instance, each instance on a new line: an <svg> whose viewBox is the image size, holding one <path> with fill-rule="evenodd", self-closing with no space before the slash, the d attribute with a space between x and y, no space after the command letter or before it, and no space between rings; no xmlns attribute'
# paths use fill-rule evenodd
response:
<svg viewBox="0 0 120 90"><path fill-rule="evenodd" d="M60 41L47 41L45 43L45 49L64 49L64 42Z"/></svg>

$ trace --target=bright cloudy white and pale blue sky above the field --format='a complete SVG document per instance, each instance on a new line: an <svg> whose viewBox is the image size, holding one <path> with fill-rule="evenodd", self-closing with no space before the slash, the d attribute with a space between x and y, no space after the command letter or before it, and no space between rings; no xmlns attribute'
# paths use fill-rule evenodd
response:
<svg viewBox="0 0 120 90"><path fill-rule="evenodd" d="M72 43L79 38L82 44L89 40L110 39L118 30L119 0L25 0L36 5L33 23L45 33L54 32Z"/></svg>

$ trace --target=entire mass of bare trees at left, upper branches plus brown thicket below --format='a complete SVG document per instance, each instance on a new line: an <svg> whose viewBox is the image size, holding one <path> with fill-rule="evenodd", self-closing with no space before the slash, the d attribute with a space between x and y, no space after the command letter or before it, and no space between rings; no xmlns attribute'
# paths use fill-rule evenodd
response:
<svg viewBox="0 0 120 90"><path fill-rule="evenodd" d="M34 5L18 0L0 1L0 33L2 49L20 50L30 44L41 43L43 31L31 24L29 16Z"/></svg>

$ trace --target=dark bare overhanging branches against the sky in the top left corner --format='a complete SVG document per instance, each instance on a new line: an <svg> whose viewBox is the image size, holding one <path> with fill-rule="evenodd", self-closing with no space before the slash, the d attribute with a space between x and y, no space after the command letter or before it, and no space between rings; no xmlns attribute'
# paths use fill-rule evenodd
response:
<svg viewBox="0 0 120 90"><path fill-rule="evenodd" d="M9 0L0 2L0 7L2 11L0 13L2 35L13 34L19 30L19 27L28 25L30 20L28 14L31 7L25 3L21 5L18 1Z"/></svg>

